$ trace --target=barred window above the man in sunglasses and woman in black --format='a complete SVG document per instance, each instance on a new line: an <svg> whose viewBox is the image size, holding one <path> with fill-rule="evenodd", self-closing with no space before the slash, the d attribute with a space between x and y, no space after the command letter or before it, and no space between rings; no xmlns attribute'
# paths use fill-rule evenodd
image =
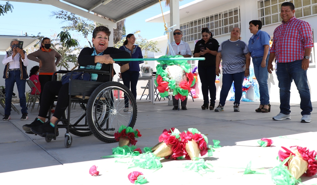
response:
<svg viewBox="0 0 317 185"><path fill-rule="evenodd" d="M239 7L180 24L185 42L201 39L201 28L209 28L212 35L217 36L230 33L234 27L240 27Z"/></svg>

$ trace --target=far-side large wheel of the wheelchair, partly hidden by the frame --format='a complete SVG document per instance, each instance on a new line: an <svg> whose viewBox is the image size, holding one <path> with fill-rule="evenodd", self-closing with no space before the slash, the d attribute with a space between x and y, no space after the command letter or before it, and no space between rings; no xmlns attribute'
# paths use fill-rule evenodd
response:
<svg viewBox="0 0 317 185"><path fill-rule="evenodd" d="M74 134L75 136L90 136L93 133L90 131L89 126L86 121L86 104L85 103L76 103L74 108L70 109L70 120L69 123L71 125L87 125L87 126L80 126L77 128L85 128L86 130L69 130L69 133ZM67 119L68 115L68 108L63 113L62 119ZM67 124L66 121L63 121L63 124ZM76 126L71 126L70 128L76 128Z"/></svg>

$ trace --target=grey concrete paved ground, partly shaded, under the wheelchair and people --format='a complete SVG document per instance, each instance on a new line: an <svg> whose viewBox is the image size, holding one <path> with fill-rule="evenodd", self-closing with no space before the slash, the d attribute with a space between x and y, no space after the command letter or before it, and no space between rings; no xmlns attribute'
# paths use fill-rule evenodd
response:
<svg viewBox="0 0 317 185"><path fill-rule="evenodd" d="M179 131L197 128L209 139L220 140L222 148L215 149L213 157L205 157L215 172L199 175L186 171L186 160L162 159L163 168L154 171L130 168L126 163L116 163L111 148L118 143L103 143L93 135L73 135L70 148L64 147L64 129L60 136L47 143L44 138L24 133L22 126L37 117L37 111L29 114L29 120L21 121L21 115L11 112L11 120L0 121L0 184L131 184L127 175L141 171L148 184L273 184L268 169L275 167L281 146L299 145L317 151L317 102L313 102L312 122L301 123L299 105L291 105L291 120L273 121L279 113L279 103L271 103L271 112L256 113L259 102L241 102L241 112L233 112L233 102L227 101L223 112L202 110L202 100L188 100L188 110L172 110L167 103L138 103L138 116L134 126L142 137L137 147L151 147L158 143L163 129L176 127ZM218 100L216 101L218 104ZM19 104L15 105L19 110ZM4 110L1 107L0 113ZM279 138L279 136L286 136ZM261 138L273 139L271 147L257 147ZM128 160L128 159L125 159ZM118 161L121 161L120 159ZM123 160L124 161L124 160ZM252 170L265 174L243 175L252 161ZM101 176L90 176L89 168L98 166ZM259 168L266 168L260 170ZM317 183L317 176L302 177L305 185Z"/></svg>

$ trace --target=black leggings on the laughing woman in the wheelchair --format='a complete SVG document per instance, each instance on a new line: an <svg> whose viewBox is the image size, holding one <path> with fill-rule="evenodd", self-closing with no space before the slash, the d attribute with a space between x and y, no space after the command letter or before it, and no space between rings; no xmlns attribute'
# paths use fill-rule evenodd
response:
<svg viewBox="0 0 317 185"><path fill-rule="evenodd" d="M61 81L50 81L44 86L42 94L42 101L40 103L39 116L45 118L50 110L52 103L54 103L55 96L58 96L54 117L61 119L61 116L68 107L68 86L69 83L61 84Z"/></svg>

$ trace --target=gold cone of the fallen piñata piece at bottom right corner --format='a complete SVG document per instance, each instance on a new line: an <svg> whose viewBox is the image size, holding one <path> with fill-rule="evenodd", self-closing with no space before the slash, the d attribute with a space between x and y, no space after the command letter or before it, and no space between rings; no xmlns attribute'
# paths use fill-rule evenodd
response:
<svg viewBox="0 0 317 185"><path fill-rule="evenodd" d="M301 157L301 154L297 150L292 150L292 152L296 154L296 156L288 160L288 170L297 180L308 169L308 163Z"/></svg>

